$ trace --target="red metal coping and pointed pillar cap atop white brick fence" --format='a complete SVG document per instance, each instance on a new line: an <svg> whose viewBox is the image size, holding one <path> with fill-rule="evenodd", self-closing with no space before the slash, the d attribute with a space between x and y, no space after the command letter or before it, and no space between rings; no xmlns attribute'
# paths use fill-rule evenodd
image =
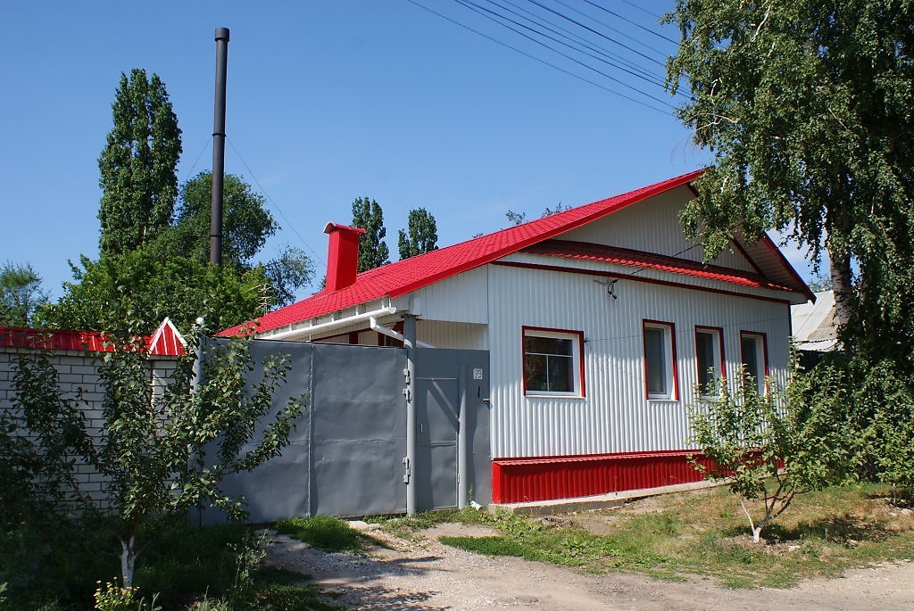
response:
<svg viewBox="0 0 914 611"><path fill-rule="evenodd" d="M154 356L178 356L185 353L184 338L167 318L153 335L144 337L143 340L148 352ZM110 336L101 332L24 327L0 327L0 347L91 353L112 353L115 348Z"/></svg>

